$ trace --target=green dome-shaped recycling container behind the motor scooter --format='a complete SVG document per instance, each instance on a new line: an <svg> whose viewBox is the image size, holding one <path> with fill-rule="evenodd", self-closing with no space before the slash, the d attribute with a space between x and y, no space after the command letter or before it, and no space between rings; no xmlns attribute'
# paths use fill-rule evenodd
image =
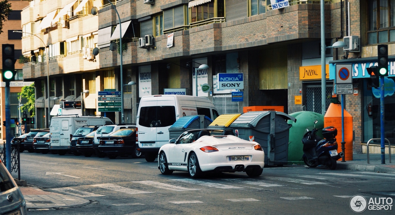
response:
<svg viewBox="0 0 395 215"><path fill-rule="evenodd" d="M323 128L324 115L310 111L299 111L290 114L290 116L293 116L296 119L296 122L288 120L288 124L292 125L290 128L290 139L288 144L288 165L304 164L302 160L303 135L305 134L306 128L314 128L314 120L318 120L316 128ZM319 130L317 135L322 138L322 130Z"/></svg>

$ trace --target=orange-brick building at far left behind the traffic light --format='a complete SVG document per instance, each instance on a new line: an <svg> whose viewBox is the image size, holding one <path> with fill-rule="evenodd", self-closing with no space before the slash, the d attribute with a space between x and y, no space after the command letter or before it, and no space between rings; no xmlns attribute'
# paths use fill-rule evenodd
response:
<svg viewBox="0 0 395 215"><path fill-rule="evenodd" d="M11 4L11 13L8 16L8 20L3 22L2 33L0 33L0 43L1 44L14 44L15 49L15 59L19 59L22 55L22 42L21 42L21 33L15 33L13 31L22 29L21 25L21 12L22 10L29 5L27 1L21 0L9 0L9 4ZM0 58L2 58L2 52L0 52ZM15 120L15 122L19 122L19 114L18 114L18 92L21 92L21 88L25 85L29 85L32 82L23 82L23 64L20 64L18 61L15 63L15 69L17 70L17 75L15 75L15 81L10 83L10 110L11 110L11 119ZM3 68L2 62L0 62L0 68ZM6 120L6 107L5 107L5 82L1 82L0 85L0 114L1 114L1 122ZM25 103L25 99L22 99L22 103ZM27 112L28 116L30 114ZM23 123L24 124L24 123ZM29 129L30 122L26 123L27 129ZM1 130L1 138L5 139L6 129L4 126L0 127ZM19 131L11 131L12 134L19 133Z"/></svg>

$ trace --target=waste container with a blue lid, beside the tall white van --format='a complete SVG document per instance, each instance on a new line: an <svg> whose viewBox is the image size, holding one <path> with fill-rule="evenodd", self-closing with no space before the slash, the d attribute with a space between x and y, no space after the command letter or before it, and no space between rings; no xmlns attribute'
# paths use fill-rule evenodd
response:
<svg viewBox="0 0 395 215"><path fill-rule="evenodd" d="M211 122L213 120L205 115L181 117L169 127L169 139L177 139L185 131L207 128Z"/></svg>

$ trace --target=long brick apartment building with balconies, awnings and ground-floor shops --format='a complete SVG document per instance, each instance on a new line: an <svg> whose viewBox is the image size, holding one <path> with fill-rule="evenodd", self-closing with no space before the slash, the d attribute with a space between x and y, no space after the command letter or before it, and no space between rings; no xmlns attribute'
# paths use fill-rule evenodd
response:
<svg viewBox="0 0 395 215"><path fill-rule="evenodd" d="M387 2L386 6L382 1ZM326 49L328 95L333 92L330 64L374 57L378 43L393 47L393 1L325 0L326 46L357 36L360 47L347 52ZM30 7L23 10L24 26L30 24L26 29L35 29L49 50L51 107L56 102L51 98L80 100L80 93L87 89L90 92L83 94L86 113L106 114L120 122L119 112L98 112L97 92L123 87L125 122L135 122L142 96L171 89L196 95L195 69L207 64L208 69L198 70L198 96L211 99L220 114L242 112L243 107L256 105L282 106L286 113L301 111L303 106L321 112L319 1L290 0L290 6L281 9L272 9L269 0L111 3L117 8L120 22L109 0L41 0L30 2ZM94 7L97 10L92 15ZM383 40L385 35L387 40ZM43 116L48 99L45 47L33 36L24 35L22 41L24 56L32 58L23 67L23 77L36 83L37 112ZM111 42L117 44L117 50L109 49ZM90 52L94 47L99 49L97 56ZM394 51L390 49L389 54ZM231 101L235 90L217 88L218 73L243 73L242 102ZM369 99L364 97L365 80L357 75L354 78L358 93L346 96L346 109L354 117L354 151L360 152L361 144L372 135L365 135L369 127L363 126L363 99ZM125 86L130 81L137 84ZM203 84L211 90L203 92Z"/></svg>

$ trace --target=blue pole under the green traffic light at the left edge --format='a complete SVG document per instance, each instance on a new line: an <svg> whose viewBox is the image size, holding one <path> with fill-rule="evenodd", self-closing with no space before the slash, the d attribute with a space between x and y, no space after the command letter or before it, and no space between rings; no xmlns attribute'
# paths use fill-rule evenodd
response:
<svg viewBox="0 0 395 215"><path fill-rule="evenodd" d="M6 100L6 167L8 172L11 172L11 110L9 108L9 81L6 81L5 87Z"/></svg>

